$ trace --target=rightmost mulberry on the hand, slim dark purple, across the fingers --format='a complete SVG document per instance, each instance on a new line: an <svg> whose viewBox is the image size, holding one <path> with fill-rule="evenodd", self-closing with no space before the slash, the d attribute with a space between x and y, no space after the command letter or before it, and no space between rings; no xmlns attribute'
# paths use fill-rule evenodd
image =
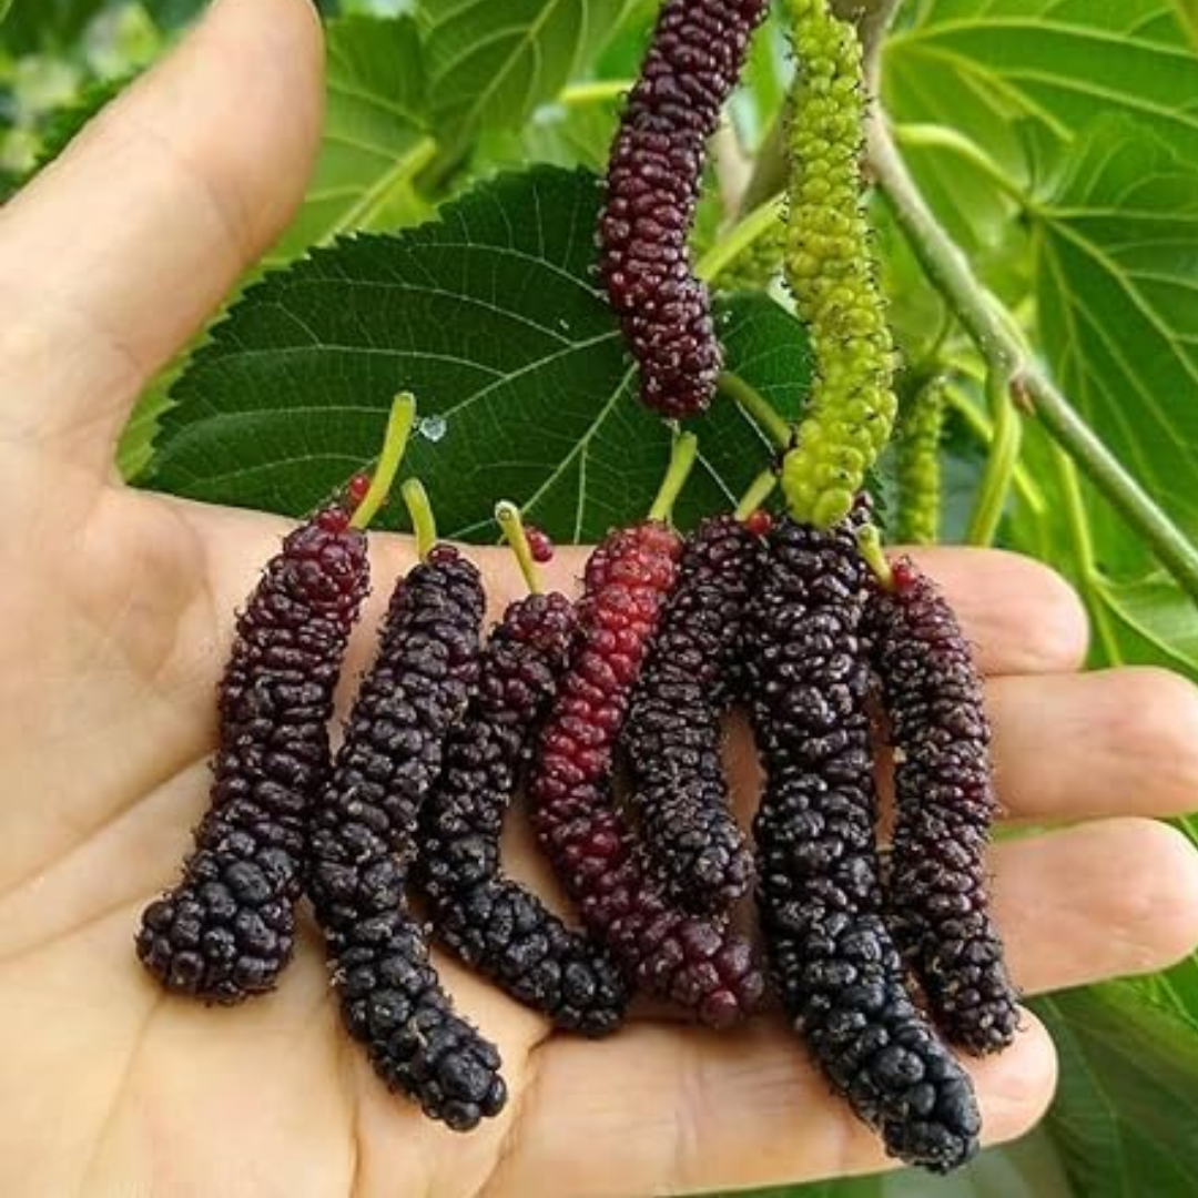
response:
<svg viewBox="0 0 1198 1198"><path fill-rule="evenodd" d="M998 805L981 680L952 609L910 562L894 592L872 592L865 627L896 750L891 927L945 1036L996 1052L1019 1011L986 896Z"/></svg>

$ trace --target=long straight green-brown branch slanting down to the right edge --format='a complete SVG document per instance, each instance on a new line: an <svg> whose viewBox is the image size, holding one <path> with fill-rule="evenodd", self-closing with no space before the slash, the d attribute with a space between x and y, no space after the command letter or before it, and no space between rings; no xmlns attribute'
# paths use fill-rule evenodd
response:
<svg viewBox="0 0 1198 1198"><path fill-rule="evenodd" d="M924 273L952 305L987 363L998 356L1011 364L1012 380L1053 440L1198 604L1198 550L1095 436L1041 367L1027 356L961 248L924 199L876 109L869 122L867 145L870 167L895 222Z"/></svg>

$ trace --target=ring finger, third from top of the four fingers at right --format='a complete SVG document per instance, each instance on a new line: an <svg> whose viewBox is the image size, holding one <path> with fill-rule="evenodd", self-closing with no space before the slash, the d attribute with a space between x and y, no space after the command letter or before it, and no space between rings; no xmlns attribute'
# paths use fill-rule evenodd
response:
<svg viewBox="0 0 1198 1198"><path fill-rule="evenodd" d="M1198 946L1198 849L1151 819L998 845L994 914L1028 994L1151 973Z"/></svg>

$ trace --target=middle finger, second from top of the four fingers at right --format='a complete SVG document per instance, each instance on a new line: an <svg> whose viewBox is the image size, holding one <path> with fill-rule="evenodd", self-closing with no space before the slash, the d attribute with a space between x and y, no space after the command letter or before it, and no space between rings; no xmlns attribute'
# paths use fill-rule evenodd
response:
<svg viewBox="0 0 1198 1198"><path fill-rule="evenodd" d="M986 686L999 799L1017 818L1198 807L1198 690L1156 668Z"/></svg>

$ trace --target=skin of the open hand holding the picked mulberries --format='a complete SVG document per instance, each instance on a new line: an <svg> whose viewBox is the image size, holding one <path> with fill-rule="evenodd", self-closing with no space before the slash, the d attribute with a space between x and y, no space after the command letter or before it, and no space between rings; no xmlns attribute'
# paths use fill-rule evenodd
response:
<svg viewBox="0 0 1198 1198"><path fill-rule="evenodd" d="M232 613L286 528L123 488L140 389L284 228L321 123L304 0L220 0L181 48L0 212L0 1192L8 1198L582 1198L882 1168L778 1017L731 1035L641 1017L551 1035L453 962L503 1053L503 1115L460 1137L387 1094L341 1033L310 930L280 990L236 1010L165 997L138 966L143 906L204 809ZM369 652L389 580L379 537ZM480 551L496 610L520 593ZM581 550L555 581L575 586ZM1078 673L1073 594L1022 558L928 550L987 673L1003 803L1064 830L993 852L1027 993L1151 970L1198 940L1198 854L1152 817L1198 792L1198 701L1156 670ZM751 807L756 766L731 766ZM551 890L527 837L515 869ZM1029 1015L970 1064L987 1137L1047 1106Z"/></svg>

